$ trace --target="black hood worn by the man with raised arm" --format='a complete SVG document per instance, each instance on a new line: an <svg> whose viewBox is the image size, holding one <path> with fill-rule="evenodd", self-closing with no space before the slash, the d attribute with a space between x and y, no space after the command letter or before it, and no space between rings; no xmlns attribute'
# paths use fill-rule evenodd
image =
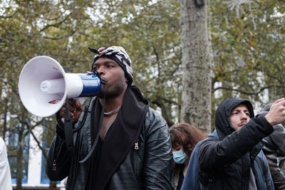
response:
<svg viewBox="0 0 285 190"><path fill-rule="evenodd" d="M231 114L232 109L239 104L247 105L250 118L254 117L254 109L252 107L252 103L249 102L249 100L232 97L222 101L216 111L214 122L219 139L222 140L224 137L227 137L227 135L232 134L232 132L235 131L234 127L229 122L229 115Z"/></svg>

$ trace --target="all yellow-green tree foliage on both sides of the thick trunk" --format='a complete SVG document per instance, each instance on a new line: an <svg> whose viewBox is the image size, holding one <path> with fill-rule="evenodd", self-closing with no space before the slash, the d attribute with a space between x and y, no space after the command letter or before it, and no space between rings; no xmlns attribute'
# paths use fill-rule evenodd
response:
<svg viewBox="0 0 285 190"><path fill-rule="evenodd" d="M218 0L208 4L212 92L217 81L223 83L222 97L264 101L266 88L272 99L283 95L284 4L251 1L240 9ZM85 73L93 60L88 46L115 45L130 54L134 84L152 107L180 110L179 1L9 1L0 9L0 87L16 97L19 73L34 56L51 56ZM170 120L179 118L178 112L163 112Z"/></svg>

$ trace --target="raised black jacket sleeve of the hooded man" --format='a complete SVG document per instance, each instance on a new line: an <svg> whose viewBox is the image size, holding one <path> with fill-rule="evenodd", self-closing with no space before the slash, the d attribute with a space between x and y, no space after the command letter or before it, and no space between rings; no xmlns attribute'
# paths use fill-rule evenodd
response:
<svg viewBox="0 0 285 190"><path fill-rule="evenodd" d="M209 138L199 147L199 169L211 171L217 167L232 164L273 131L273 127L261 115L252 118L242 129L229 134L222 141Z"/></svg>

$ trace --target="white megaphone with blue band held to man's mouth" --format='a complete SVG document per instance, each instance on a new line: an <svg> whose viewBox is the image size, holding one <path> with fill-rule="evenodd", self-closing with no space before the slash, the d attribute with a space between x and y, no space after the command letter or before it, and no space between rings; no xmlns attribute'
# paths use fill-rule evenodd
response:
<svg viewBox="0 0 285 190"><path fill-rule="evenodd" d="M19 95L33 115L48 117L61 109L68 98L93 97L100 93L95 74L65 73L53 58L37 56L24 65L19 77Z"/></svg>

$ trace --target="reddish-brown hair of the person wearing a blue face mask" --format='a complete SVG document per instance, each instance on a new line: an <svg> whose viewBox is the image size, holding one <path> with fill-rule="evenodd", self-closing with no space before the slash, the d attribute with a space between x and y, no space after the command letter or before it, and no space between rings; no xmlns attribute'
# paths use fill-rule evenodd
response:
<svg viewBox="0 0 285 190"><path fill-rule="evenodd" d="M206 136L200 130L185 122L170 127L172 148L175 149L175 147L181 145L188 158L190 158L196 144L205 138Z"/></svg>

